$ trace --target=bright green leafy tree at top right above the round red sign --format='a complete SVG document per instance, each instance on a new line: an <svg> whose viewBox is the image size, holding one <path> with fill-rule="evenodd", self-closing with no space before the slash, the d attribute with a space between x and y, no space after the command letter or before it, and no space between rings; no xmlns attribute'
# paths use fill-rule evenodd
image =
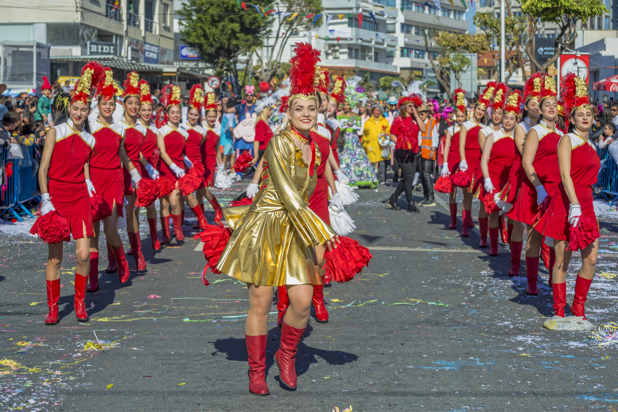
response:
<svg viewBox="0 0 618 412"><path fill-rule="evenodd" d="M592 17L609 13L599 0L525 0L522 2L522 12L528 19L528 41L525 51L530 62L541 72L546 72L564 49L575 40L578 21L587 22ZM554 55L543 64L535 59L534 40L539 23L557 25Z"/></svg>

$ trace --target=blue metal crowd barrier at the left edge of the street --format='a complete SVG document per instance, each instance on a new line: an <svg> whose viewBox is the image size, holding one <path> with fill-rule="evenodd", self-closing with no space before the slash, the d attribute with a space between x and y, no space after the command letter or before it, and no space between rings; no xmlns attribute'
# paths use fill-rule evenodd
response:
<svg viewBox="0 0 618 412"><path fill-rule="evenodd" d="M20 145L23 159L9 159L9 151L2 149L0 162L4 165L4 184L6 190L2 193L2 203L0 212L8 214L9 217L23 222L22 214L34 219L32 213L23 206L23 203L34 198L38 198L36 190L36 170L37 165L34 159L35 146ZM11 164L12 174L7 177L7 165ZM4 186L4 185L2 185Z"/></svg>

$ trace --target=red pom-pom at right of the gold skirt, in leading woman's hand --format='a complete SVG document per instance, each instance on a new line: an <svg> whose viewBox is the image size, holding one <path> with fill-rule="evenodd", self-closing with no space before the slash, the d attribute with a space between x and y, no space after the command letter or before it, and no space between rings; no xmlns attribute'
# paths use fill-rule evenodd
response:
<svg viewBox="0 0 618 412"><path fill-rule="evenodd" d="M369 253L369 249L352 238L340 236L339 240L341 243L336 248L324 252L324 259L326 276L331 276L337 282L343 283L354 279L363 267L369 266L373 256Z"/></svg>

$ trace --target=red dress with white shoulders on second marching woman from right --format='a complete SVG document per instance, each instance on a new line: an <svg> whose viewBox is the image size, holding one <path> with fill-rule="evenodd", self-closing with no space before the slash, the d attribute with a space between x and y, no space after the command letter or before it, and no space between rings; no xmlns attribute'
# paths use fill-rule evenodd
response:
<svg viewBox="0 0 618 412"><path fill-rule="evenodd" d="M532 165L545 191L552 196L560 183L557 150L562 132L557 129L550 130L543 120L531 130L535 130L539 136L539 146ZM539 210L539 205L536 204L536 189L528 179L523 179L522 183L513 207L506 213L506 216L514 221L532 225Z"/></svg>

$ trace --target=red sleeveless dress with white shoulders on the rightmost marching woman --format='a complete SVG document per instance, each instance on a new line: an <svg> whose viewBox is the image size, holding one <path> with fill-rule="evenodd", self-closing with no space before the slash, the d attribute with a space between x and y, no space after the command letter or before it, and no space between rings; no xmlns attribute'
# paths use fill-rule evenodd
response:
<svg viewBox="0 0 618 412"><path fill-rule="evenodd" d="M598 229L592 185L596 183L601 161L590 140L584 141L576 133L569 133L563 138L571 140L571 179L582 208L582 216L588 217ZM569 196L560 182L551 198L548 211L535 225L535 229L556 240L569 240L569 204Z"/></svg>

